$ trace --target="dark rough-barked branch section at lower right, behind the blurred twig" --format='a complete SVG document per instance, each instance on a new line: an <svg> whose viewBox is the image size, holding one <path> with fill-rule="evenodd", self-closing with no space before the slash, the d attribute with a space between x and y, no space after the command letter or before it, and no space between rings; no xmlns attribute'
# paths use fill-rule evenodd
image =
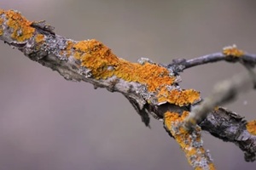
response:
<svg viewBox="0 0 256 170"><path fill-rule="evenodd" d="M256 128L255 121L253 127L248 127L251 122L247 122L244 117L236 112L229 111L223 107L218 107L207 116L199 125L202 130L211 133L218 139L225 142L232 142L244 151L246 161L256 159Z"/></svg>

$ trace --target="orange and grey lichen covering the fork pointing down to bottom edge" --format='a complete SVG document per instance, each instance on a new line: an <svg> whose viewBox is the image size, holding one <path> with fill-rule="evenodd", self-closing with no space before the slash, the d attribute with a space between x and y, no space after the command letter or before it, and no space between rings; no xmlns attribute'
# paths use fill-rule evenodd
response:
<svg viewBox="0 0 256 170"><path fill-rule="evenodd" d="M215 169L211 158L202 147L201 142L201 128L196 127L194 134L183 127L183 122L186 116L189 115L188 111L183 111L182 115L175 112L167 111L165 113L165 126L166 129L172 133L174 139L184 151L189 164L195 169Z"/></svg>

